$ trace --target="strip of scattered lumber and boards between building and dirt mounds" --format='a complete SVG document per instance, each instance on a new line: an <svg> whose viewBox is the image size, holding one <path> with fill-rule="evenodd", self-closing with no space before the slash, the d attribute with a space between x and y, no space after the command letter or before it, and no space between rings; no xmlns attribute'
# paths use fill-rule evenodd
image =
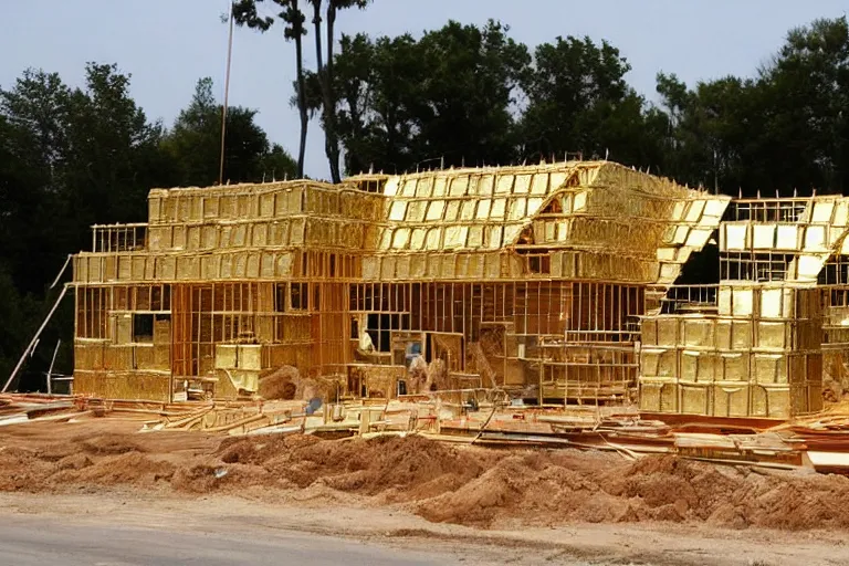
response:
<svg viewBox="0 0 849 566"><path fill-rule="evenodd" d="M375 438L416 434L452 444L580 449L628 460L669 454L688 460L849 475L849 410L786 423L723 419L664 422L615 407L509 405L488 390L431 392L409 400L143 403L76 397L0 397L0 426L143 418L142 432L193 431L232 437L307 434Z"/></svg>

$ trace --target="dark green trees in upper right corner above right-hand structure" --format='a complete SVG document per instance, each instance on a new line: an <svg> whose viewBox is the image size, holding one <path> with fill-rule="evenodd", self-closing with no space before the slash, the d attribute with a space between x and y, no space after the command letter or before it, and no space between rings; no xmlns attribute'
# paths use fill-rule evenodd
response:
<svg viewBox="0 0 849 566"><path fill-rule="evenodd" d="M792 30L754 80L689 90L658 75L669 119L667 172L726 193L842 192L849 186L849 27Z"/></svg>

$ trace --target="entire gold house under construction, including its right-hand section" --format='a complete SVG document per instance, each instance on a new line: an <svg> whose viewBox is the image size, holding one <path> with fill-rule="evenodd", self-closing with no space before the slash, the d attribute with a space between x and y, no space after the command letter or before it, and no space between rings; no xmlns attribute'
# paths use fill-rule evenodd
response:
<svg viewBox="0 0 849 566"><path fill-rule="evenodd" d="M824 358L842 371L849 347L840 197L733 200L566 161L148 202L74 256L77 394L235 398L291 365L394 397L421 356L440 389L786 418L821 407Z"/></svg>

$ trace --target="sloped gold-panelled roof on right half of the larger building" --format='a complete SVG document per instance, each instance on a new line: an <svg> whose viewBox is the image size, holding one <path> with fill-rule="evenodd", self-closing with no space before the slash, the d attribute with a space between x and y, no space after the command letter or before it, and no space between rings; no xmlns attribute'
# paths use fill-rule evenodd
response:
<svg viewBox="0 0 849 566"><path fill-rule="evenodd" d="M646 245L651 254L686 201L705 196L610 161L426 171L389 177L384 195L377 250L385 253L497 250L515 245L532 221L556 211L552 245L633 243L606 228L651 224L658 232Z"/></svg>

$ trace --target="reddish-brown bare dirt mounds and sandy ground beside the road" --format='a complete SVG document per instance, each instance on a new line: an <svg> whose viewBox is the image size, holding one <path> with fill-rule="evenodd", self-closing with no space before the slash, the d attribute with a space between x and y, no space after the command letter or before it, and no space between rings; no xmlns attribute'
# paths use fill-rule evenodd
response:
<svg viewBox="0 0 849 566"><path fill-rule="evenodd" d="M441 548L467 564L849 564L843 476L420 437L138 428L0 428L0 515L294 530Z"/></svg>

